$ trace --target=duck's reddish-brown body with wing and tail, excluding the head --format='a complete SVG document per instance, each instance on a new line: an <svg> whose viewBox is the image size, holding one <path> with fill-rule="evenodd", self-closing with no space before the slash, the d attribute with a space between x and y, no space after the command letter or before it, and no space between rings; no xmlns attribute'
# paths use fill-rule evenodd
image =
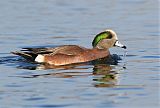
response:
<svg viewBox="0 0 160 108"><path fill-rule="evenodd" d="M77 45L64 45L55 48L25 48L23 51L13 53L30 61L52 65L88 62L110 55L108 50L88 49Z"/></svg>

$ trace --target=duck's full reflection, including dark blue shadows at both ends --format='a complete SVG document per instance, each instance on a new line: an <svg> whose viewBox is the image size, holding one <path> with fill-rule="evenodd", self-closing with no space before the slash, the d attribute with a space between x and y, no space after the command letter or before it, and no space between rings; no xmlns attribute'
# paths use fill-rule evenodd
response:
<svg viewBox="0 0 160 108"><path fill-rule="evenodd" d="M54 66L49 64L37 64L26 62L24 59L12 57L1 58L1 63L12 64L18 69L27 70L47 70L54 69L54 72L47 74L34 74L23 76L23 78L37 78L37 77L56 77L56 78L75 78L75 77L93 77L93 85L95 87L113 87L117 85L118 73L112 69L112 66L117 64L120 60L118 55L112 55L110 58L103 58L94 60L92 62L71 64L64 66ZM112 65L112 66L111 66ZM87 69L93 70L88 72ZM22 77L22 76L20 76Z"/></svg>

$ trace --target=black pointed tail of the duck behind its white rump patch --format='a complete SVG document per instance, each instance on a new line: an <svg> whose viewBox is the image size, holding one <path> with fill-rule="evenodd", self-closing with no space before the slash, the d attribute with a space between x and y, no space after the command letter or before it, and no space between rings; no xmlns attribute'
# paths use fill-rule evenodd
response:
<svg viewBox="0 0 160 108"><path fill-rule="evenodd" d="M23 58L25 58L28 61L35 61L35 58L38 56L38 54L32 53L32 52L21 52L21 51L15 51L11 52L12 54L19 55Z"/></svg>

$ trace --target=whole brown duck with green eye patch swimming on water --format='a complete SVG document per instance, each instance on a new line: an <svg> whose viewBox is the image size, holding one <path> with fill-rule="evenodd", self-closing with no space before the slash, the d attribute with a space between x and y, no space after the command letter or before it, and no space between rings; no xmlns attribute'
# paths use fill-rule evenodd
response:
<svg viewBox="0 0 160 108"><path fill-rule="evenodd" d="M22 48L20 51L11 53L21 56L28 61L62 66L109 57L111 55L109 48L112 47L127 48L119 42L117 34L111 29L98 33L92 41L92 47L61 45L53 48Z"/></svg>

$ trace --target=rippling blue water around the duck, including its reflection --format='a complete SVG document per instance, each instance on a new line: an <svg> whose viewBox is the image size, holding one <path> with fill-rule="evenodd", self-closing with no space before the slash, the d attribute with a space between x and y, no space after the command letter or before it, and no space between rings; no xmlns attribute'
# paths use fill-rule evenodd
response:
<svg viewBox="0 0 160 108"><path fill-rule="evenodd" d="M1 0L0 108L160 106L159 1ZM11 51L77 44L107 28L127 46L118 64L54 67ZM110 49L123 58L124 50Z"/></svg>

